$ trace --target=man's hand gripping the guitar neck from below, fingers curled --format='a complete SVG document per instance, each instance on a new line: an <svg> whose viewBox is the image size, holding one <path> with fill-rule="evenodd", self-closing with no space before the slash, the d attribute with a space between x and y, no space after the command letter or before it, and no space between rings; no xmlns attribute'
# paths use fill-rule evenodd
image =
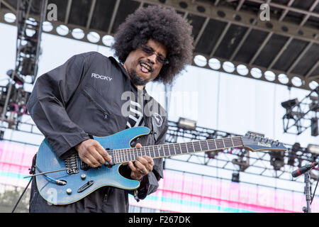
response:
<svg viewBox="0 0 319 227"><path fill-rule="evenodd" d="M142 145L138 143L135 145L135 148L142 148ZM140 180L143 176L153 170L154 161L152 157L144 155L143 157L138 157L134 162L128 162L128 166L130 167L130 170L132 170L130 177L132 179Z"/></svg>

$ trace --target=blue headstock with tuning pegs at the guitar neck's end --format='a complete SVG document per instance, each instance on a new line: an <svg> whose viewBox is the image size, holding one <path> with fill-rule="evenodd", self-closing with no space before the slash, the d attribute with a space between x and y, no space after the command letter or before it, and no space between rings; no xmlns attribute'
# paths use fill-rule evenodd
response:
<svg viewBox="0 0 319 227"><path fill-rule="evenodd" d="M247 133L245 136L242 136L242 145L252 152L260 150L287 150L284 144L280 143L278 140L270 140L269 138L263 138L251 133Z"/></svg>

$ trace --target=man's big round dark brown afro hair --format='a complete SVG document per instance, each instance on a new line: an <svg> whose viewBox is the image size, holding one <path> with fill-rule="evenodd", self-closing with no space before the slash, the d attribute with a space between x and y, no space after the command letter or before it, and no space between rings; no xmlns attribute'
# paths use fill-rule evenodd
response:
<svg viewBox="0 0 319 227"><path fill-rule="evenodd" d="M162 6L140 8L130 14L116 31L112 48L120 62L128 54L149 39L156 40L167 48L169 64L163 65L156 82L172 84L174 77L191 64L193 37L191 25L173 9Z"/></svg>

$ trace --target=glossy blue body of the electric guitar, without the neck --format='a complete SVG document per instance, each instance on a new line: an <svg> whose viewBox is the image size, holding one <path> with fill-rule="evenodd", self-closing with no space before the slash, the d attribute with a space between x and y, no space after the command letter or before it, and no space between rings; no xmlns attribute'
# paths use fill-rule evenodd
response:
<svg viewBox="0 0 319 227"><path fill-rule="evenodd" d="M106 137L94 137L94 139L99 141L103 148L115 150L130 148L130 142L134 138L148 133L150 133L149 128L135 127ZM78 162L80 162L79 158ZM43 143L41 143L35 164L37 167L35 174L66 168L65 160L60 160L55 155L47 140L43 140ZM77 164L80 165L80 163ZM89 168L88 170L82 170L79 167L79 172L73 174L64 170L36 175L36 184L40 195L51 204L57 205L72 204L104 186L128 190L140 187L140 182L137 180L127 179L120 175L118 169L121 165L116 164L112 167L102 165L99 169ZM64 185L57 184L55 180L63 182Z"/></svg>

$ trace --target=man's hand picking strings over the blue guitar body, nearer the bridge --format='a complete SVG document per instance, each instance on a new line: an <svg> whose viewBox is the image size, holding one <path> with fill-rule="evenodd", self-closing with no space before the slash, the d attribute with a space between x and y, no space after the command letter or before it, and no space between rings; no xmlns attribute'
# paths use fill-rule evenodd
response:
<svg viewBox="0 0 319 227"><path fill-rule="evenodd" d="M101 165L112 163L111 155L108 155L106 150L96 140L84 140L75 146L79 157L90 167L99 167Z"/></svg>

